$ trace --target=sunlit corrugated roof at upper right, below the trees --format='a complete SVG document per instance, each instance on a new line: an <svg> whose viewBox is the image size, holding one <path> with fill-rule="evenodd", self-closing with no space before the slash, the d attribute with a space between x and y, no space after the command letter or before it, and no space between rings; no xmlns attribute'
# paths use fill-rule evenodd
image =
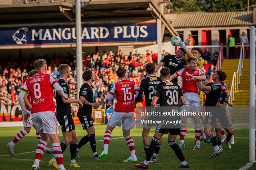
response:
<svg viewBox="0 0 256 170"><path fill-rule="evenodd" d="M171 13L165 14L174 28L191 27L229 27L254 25L253 12L215 12L215 13Z"/></svg>

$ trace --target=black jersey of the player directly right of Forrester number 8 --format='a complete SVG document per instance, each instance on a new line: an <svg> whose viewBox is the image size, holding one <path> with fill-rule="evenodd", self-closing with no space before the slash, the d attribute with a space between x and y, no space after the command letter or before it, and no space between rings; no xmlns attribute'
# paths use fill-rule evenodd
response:
<svg viewBox="0 0 256 170"><path fill-rule="evenodd" d="M70 97L70 92L69 92L69 87L67 82L60 78L59 79L59 84L62 87L62 90L65 94ZM61 95L55 91L55 98L56 98L56 104L57 104L57 116L66 116L66 115L71 115L71 107L69 103L64 103L62 100Z"/></svg>

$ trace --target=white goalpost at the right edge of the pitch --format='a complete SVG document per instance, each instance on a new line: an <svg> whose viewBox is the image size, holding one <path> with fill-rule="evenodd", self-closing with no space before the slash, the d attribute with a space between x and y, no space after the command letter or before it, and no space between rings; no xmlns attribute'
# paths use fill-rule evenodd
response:
<svg viewBox="0 0 256 170"><path fill-rule="evenodd" d="M255 27L250 27L249 163L255 163Z"/></svg>

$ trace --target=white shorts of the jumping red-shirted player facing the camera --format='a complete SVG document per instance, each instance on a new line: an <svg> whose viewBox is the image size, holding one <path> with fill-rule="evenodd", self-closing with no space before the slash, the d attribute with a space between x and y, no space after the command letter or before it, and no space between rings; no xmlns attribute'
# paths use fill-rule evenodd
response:
<svg viewBox="0 0 256 170"><path fill-rule="evenodd" d="M185 93L184 99L186 103L181 106L182 110L188 112L200 112L201 111L201 100L198 93Z"/></svg>

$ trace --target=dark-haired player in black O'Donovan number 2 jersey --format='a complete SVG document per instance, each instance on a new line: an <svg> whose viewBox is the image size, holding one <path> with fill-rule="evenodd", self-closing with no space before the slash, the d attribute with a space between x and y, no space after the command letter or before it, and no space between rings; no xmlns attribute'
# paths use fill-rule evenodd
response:
<svg viewBox="0 0 256 170"><path fill-rule="evenodd" d="M141 80L140 87L138 89L138 96L135 98L134 101L132 101L133 106L136 106L136 103L141 100L141 97L144 93L146 107L150 107L153 99L154 91L155 91L155 86L162 82L161 78L156 77L154 75L155 64L147 63L145 68L148 76L146 79ZM158 103L158 106L159 106L159 103ZM148 115L145 117L145 120L149 120ZM143 139L143 148L145 153L147 153L147 150L150 145L148 134L150 132L151 127L154 125L155 124L147 124L147 123L143 125L142 139ZM161 148L161 144L162 144L162 138L160 138L158 144L156 145L155 153L152 155L152 161L158 160L158 153Z"/></svg>

